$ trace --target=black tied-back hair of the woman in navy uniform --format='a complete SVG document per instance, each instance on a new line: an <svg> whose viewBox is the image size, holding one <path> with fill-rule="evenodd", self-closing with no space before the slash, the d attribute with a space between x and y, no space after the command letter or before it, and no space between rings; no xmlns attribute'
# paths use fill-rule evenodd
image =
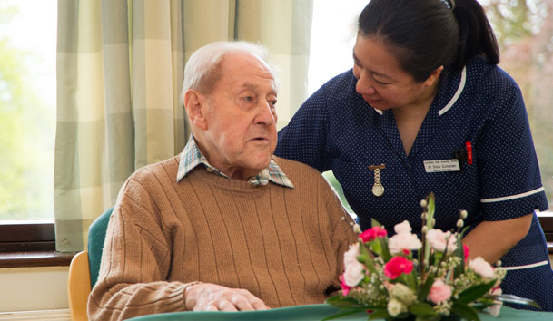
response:
<svg viewBox="0 0 553 321"><path fill-rule="evenodd" d="M417 82L441 65L461 70L476 55L499 63L498 41L476 0L371 0L359 34L387 45Z"/></svg>

